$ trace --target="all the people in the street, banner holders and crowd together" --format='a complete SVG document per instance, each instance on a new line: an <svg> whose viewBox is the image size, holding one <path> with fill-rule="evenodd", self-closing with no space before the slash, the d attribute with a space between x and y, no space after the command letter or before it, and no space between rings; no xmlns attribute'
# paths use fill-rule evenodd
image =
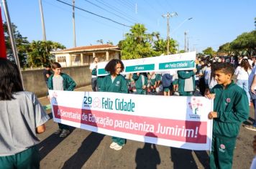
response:
<svg viewBox="0 0 256 169"><path fill-rule="evenodd" d="M193 70L133 74L122 74L122 61L111 59L106 64L105 70L109 75L105 77L97 77L99 59L93 59L90 69L92 90L95 92L165 96L193 96L200 93L214 99L214 110L209 112L209 119L214 120L210 165L211 168L232 168L239 127L248 118L250 102L256 106L255 59L241 57L236 64L232 59L203 57L196 59L196 69ZM6 59L1 59L0 63L0 168L6 168L10 164L14 167L39 168L36 146L39 140L36 133L45 131L44 124L49 117L37 97L23 90L16 65ZM48 89L74 90L76 82L68 74L61 72L58 62L54 62L51 68L53 73L50 73L48 66L44 71ZM234 74L236 82L233 80ZM12 107L13 104L18 106ZM12 115L14 112L15 115ZM55 134L60 137L66 137L70 133L68 125L58 123L58 126ZM256 122L244 127L256 130ZM112 137L109 147L122 150L126 141L124 138Z"/></svg>

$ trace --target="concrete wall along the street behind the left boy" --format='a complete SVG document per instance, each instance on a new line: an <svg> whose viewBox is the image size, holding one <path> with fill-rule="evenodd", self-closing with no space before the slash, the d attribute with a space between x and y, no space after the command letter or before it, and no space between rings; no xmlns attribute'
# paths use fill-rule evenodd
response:
<svg viewBox="0 0 256 169"><path fill-rule="evenodd" d="M34 92L37 97L45 97L47 87L42 74L43 69L22 71L25 90ZM62 72L68 74L76 82L76 87L91 84L91 71L89 66L63 67Z"/></svg>

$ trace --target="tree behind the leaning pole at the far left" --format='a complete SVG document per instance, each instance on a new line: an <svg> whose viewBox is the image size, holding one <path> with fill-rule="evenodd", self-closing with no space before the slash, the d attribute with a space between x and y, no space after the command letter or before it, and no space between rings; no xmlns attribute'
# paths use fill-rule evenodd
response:
<svg viewBox="0 0 256 169"><path fill-rule="evenodd" d="M11 40L9 38L7 23L4 22L3 25L4 25L4 40L6 44L7 58L10 61L15 62L14 54L12 52ZM19 31L17 31L17 26L14 24L12 24L12 32L14 34L14 39L17 46L19 65L20 67L25 67L25 65L27 64L27 49L29 47L29 41L27 40L27 37L22 37L22 34L20 34Z"/></svg>

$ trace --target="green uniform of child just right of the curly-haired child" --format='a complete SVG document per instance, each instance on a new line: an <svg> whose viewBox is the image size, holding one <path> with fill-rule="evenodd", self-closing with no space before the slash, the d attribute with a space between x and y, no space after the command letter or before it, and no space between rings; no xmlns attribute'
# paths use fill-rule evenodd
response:
<svg viewBox="0 0 256 169"><path fill-rule="evenodd" d="M147 95L147 90L142 89L142 87L145 85L147 86L147 74L146 73L140 73L138 76L137 73L134 73L132 75L132 79L135 81L135 88L136 88L136 93L139 95Z"/></svg>

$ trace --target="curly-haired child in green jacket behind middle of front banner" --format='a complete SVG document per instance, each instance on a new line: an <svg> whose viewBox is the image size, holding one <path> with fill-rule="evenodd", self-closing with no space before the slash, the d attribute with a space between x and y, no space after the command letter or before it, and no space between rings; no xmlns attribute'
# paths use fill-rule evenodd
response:
<svg viewBox="0 0 256 169"><path fill-rule="evenodd" d="M106 72L110 74L104 77L101 82L101 92L128 93L127 80L120 74L124 70L124 64L119 59L111 59L106 64ZM124 138L112 137L109 148L121 150L126 140Z"/></svg>

